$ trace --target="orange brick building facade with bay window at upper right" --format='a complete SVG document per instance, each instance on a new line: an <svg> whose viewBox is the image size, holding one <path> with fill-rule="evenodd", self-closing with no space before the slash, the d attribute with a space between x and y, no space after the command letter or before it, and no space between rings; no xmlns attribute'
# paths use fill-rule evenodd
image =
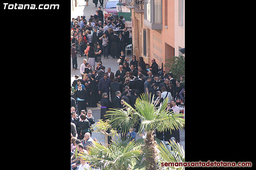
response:
<svg viewBox="0 0 256 170"><path fill-rule="evenodd" d="M137 59L143 57L151 65L154 58L161 67L166 59L180 55L178 50L185 47L184 0L144 0L144 5L133 3L130 9L133 53ZM163 67L165 71L169 69Z"/></svg>

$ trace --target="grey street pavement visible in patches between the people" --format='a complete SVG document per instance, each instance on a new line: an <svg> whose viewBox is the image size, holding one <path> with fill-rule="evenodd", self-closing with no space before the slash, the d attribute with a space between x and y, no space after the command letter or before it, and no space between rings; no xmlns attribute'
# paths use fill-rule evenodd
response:
<svg viewBox="0 0 256 170"><path fill-rule="evenodd" d="M71 19L76 18L77 16L85 16L86 20L90 18L91 14L95 14L95 11L98 10L98 8L95 7L95 5L92 3L91 0L89 0L88 6L84 5L84 0L78 0L78 6L76 9L72 12L71 11ZM104 5L106 4L106 0L104 0ZM99 6L99 4L98 4ZM102 11L104 11L103 8L101 8ZM71 20L70 20L71 21ZM79 56L80 53L77 54ZM129 57L129 61L131 61L131 53L128 51L127 57ZM103 55L101 58L102 65L107 68L111 68L111 71L116 74L116 71L119 69L117 63L118 59L112 59L112 57L109 55L109 59L104 59ZM78 68L80 68L80 65L83 63L83 59L86 59L86 56L83 57L77 57L77 63ZM96 67L95 67L96 68ZM81 77L80 70L73 70L72 68L72 59L70 57L70 72L71 72L71 84L75 80L74 76L78 74ZM100 103L97 104L98 107L87 107L87 110L92 110L92 116L95 119L95 123L100 119ZM92 138L96 138L99 142L105 143L104 135L101 133L95 133L92 132ZM136 134L136 140L141 139L142 137L139 136L139 134ZM185 150L185 130L180 129L180 145L183 146L183 149Z"/></svg>

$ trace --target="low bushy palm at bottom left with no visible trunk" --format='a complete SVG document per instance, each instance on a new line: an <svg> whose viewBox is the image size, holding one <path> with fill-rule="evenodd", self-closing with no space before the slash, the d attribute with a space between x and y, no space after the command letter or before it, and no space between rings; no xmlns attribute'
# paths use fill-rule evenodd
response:
<svg viewBox="0 0 256 170"><path fill-rule="evenodd" d="M94 142L94 146L88 147L88 154L82 153L78 156L86 159L91 167L100 170L131 170L145 169L147 165L145 156L149 156L148 154L149 150L143 149L142 144L118 138L110 145Z"/></svg>

